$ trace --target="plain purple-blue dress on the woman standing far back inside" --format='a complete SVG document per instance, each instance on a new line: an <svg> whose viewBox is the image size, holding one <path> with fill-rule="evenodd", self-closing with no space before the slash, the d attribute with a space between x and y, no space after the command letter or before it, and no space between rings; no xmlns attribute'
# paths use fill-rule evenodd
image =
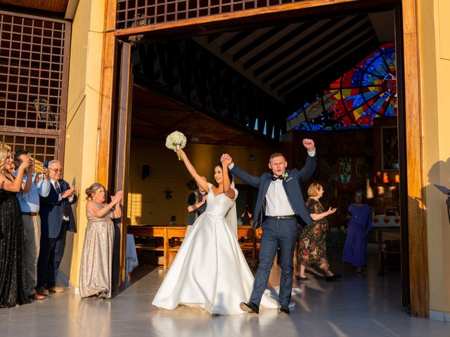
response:
<svg viewBox="0 0 450 337"><path fill-rule="evenodd" d="M364 267L366 265L366 231L371 230L372 227L371 209L365 204L361 206L350 204L349 213L352 214L352 218L349 220L342 262L351 263L355 267Z"/></svg>

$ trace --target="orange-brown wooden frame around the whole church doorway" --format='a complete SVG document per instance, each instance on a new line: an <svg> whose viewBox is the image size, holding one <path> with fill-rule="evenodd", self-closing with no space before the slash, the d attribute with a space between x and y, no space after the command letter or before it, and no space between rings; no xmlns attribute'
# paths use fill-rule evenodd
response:
<svg viewBox="0 0 450 337"><path fill-rule="evenodd" d="M115 48L117 39L125 39L131 35L146 34L146 36L160 39L181 32L188 34L198 32L218 31L226 27L239 27L245 23L261 22L262 20L275 21L281 18L302 17L306 15L333 15L335 10L354 11L364 8L377 8L390 5L395 8L396 19L401 19L401 33L397 29L397 43L402 48L401 72L403 81L400 88L403 97L399 97L400 104L404 106L404 119L399 120L399 131L404 133L403 161L406 179L402 197L403 205L407 205L404 218L408 226L403 234L408 238L408 245L404 246L404 253L409 256L409 302L411 303L411 316L429 317L430 305L428 296L428 245L427 223L425 216L425 182L426 176L423 168L423 131L422 111L420 107L420 53L418 51L418 4L417 0L309 0L283 6L257 8L254 10L226 13L203 18L192 18L174 22L165 22L158 25L115 29L116 0L106 1L105 11L105 39L103 46L103 77L101 89L101 111L99 118L98 149L97 149L97 180L108 183L110 180L111 147L110 139L111 121L114 113L115 88ZM385 7L384 7L385 8ZM401 12L401 15L398 13ZM408 140L408 141L406 141ZM129 148L129 144L127 145ZM125 163L127 164L127 163ZM127 167L127 166L124 166ZM403 207L405 209L405 207ZM126 214L124 214L126 218ZM411 249L409 249L411 247Z"/></svg>

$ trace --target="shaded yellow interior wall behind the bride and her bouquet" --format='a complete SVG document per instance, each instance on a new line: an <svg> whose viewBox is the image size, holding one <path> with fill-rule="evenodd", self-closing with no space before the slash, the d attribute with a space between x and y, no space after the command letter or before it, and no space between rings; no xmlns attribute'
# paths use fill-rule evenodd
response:
<svg viewBox="0 0 450 337"><path fill-rule="evenodd" d="M233 161L248 173L258 176L269 171L269 156L276 152L271 147L202 144L188 144L185 150L198 173L210 182L214 180L214 166L219 164L220 156L224 152L231 154ZM255 155L255 161L248 161L250 154ZM141 178L143 165L150 166L150 176L145 180ZM187 199L191 193L186 183L192 177L176 154L165 147L165 143L131 140L129 178L128 217L131 224L167 225L170 216L174 215L177 225L186 225ZM236 179L236 183L242 182ZM170 200L165 199L164 191L167 187L172 190Z"/></svg>

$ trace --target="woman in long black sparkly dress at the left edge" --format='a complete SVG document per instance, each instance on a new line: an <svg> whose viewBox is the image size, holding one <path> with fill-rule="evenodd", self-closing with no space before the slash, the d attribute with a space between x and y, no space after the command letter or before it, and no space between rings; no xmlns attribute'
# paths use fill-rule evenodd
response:
<svg viewBox="0 0 450 337"><path fill-rule="evenodd" d="M16 194L22 189L24 173L30 161L24 160L17 176L10 172L11 152L0 147L0 308L29 303L25 290L25 265L23 258L23 220ZM27 187L30 187L28 183Z"/></svg>

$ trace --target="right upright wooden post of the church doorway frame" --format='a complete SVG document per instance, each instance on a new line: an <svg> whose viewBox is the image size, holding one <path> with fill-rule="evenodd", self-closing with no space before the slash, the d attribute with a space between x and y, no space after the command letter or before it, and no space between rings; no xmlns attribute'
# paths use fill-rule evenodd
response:
<svg viewBox="0 0 450 337"><path fill-rule="evenodd" d="M402 5L411 316L429 317L428 244L425 216L426 177L423 169L423 117L420 110L417 2L416 0L403 0Z"/></svg>

